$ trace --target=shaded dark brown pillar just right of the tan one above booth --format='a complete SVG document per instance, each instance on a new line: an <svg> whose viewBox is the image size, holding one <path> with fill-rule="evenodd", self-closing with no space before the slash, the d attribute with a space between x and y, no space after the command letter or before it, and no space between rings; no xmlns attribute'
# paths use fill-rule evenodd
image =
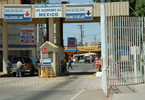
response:
<svg viewBox="0 0 145 100"><path fill-rule="evenodd" d="M56 44L60 45L60 18L56 20Z"/></svg>

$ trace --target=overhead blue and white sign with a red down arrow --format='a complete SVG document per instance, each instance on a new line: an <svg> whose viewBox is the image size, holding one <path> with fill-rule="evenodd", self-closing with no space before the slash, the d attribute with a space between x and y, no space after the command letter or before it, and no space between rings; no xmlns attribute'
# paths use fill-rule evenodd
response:
<svg viewBox="0 0 145 100"><path fill-rule="evenodd" d="M31 21L31 7L4 7L4 21Z"/></svg>

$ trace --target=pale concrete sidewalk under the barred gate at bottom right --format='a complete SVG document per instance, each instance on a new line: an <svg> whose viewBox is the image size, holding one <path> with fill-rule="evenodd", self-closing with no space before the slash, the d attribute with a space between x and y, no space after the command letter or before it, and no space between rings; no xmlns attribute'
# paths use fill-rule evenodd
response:
<svg viewBox="0 0 145 100"><path fill-rule="evenodd" d="M145 84L114 86L108 100L145 100Z"/></svg>

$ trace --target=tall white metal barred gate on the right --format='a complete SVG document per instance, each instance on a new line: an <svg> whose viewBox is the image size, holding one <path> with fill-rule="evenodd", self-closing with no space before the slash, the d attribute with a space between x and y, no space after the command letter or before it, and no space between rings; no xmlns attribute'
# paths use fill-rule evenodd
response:
<svg viewBox="0 0 145 100"><path fill-rule="evenodd" d="M107 17L108 86L144 82L143 18Z"/></svg>

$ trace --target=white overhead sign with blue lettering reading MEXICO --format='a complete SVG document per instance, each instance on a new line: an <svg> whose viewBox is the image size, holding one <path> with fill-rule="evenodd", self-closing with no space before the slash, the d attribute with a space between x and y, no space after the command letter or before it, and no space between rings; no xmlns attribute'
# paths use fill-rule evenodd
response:
<svg viewBox="0 0 145 100"><path fill-rule="evenodd" d="M62 4L36 4L36 18L62 17Z"/></svg>

